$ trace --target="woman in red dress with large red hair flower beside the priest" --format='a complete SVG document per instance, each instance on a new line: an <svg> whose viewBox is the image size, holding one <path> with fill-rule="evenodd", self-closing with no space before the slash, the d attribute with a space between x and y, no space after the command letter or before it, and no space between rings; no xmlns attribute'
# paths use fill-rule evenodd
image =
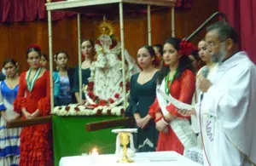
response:
<svg viewBox="0 0 256 166"><path fill-rule="evenodd" d="M158 77L158 84L165 84L166 94L172 94L174 98L184 103L191 103L195 92L195 74L192 72L193 67L188 56L191 50L187 45L182 45L178 38L169 38L166 40L163 49L164 65L161 67ZM175 121L177 117L183 117L175 106L166 106L167 113L163 116L160 109L158 98L154 100L154 104L150 106L148 114L154 118L156 129L160 131L157 151L175 151L183 154L183 143L178 139L177 135L169 125Z"/></svg>

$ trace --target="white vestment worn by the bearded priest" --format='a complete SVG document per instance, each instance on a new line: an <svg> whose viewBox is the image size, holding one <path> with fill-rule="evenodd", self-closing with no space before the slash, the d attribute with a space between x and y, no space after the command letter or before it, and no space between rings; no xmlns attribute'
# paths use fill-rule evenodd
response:
<svg viewBox="0 0 256 166"><path fill-rule="evenodd" d="M238 52L218 65L210 81L201 110L215 118L211 166L255 164L256 66L246 52ZM199 105L195 110L198 114Z"/></svg>

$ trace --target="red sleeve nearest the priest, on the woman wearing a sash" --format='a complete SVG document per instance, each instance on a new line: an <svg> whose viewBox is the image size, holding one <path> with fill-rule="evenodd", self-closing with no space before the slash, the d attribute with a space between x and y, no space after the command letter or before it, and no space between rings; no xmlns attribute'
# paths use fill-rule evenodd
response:
<svg viewBox="0 0 256 166"><path fill-rule="evenodd" d="M195 93L195 75L193 72L186 70L181 76L181 90L177 100L183 103L190 104L193 99L193 94ZM166 106L166 110L170 112L173 116L183 117L177 112L177 109L172 104ZM190 117L183 117L190 118Z"/></svg>

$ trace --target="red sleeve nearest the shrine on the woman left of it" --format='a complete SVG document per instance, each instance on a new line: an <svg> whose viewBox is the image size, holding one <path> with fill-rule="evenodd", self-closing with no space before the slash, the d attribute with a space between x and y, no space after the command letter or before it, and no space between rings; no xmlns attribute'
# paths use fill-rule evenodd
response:
<svg viewBox="0 0 256 166"><path fill-rule="evenodd" d="M40 116L47 116L50 112L50 89L49 89L49 71L46 71L46 96L38 100L38 110Z"/></svg>

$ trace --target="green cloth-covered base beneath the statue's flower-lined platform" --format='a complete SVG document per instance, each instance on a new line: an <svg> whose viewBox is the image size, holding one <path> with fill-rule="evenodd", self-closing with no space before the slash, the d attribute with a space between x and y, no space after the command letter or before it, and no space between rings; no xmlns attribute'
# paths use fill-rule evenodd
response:
<svg viewBox="0 0 256 166"><path fill-rule="evenodd" d="M78 156L89 152L93 147L98 147L101 154L113 153L115 151L116 134L113 134L111 129L88 132L85 130L85 124L118 118L121 117L53 116L55 166L59 165L61 157Z"/></svg>

